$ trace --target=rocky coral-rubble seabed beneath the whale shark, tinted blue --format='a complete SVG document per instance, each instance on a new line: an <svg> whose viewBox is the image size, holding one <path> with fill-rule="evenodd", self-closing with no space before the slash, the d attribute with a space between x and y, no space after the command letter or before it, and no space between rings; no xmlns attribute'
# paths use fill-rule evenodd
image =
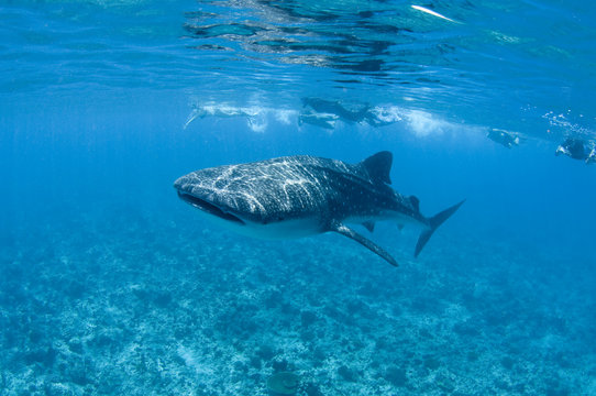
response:
<svg viewBox="0 0 596 396"><path fill-rule="evenodd" d="M413 260L397 230L395 268L340 235L251 240L190 211L4 235L0 393L267 395L294 372L310 396L596 394L593 270L449 232Z"/></svg>

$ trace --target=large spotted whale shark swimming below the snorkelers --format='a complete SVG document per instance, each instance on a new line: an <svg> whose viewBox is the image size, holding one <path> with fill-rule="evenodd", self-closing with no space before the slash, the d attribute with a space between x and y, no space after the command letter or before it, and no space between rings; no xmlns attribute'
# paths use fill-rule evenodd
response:
<svg viewBox="0 0 596 396"><path fill-rule="evenodd" d="M393 154L376 153L349 164L309 155L284 156L191 172L174 183L178 197L222 226L250 237L291 239L336 232L369 249L389 264L397 261L349 223L373 232L393 220L422 227L418 256L433 232L464 202L433 217L420 213L419 199L393 189Z"/></svg>

